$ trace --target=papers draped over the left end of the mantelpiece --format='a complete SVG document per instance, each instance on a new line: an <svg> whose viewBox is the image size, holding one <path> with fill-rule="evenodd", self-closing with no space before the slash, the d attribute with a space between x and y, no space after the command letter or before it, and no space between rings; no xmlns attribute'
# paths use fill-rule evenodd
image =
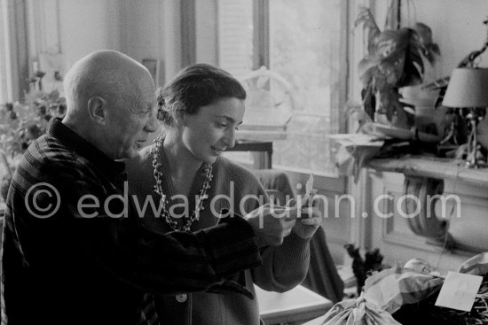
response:
<svg viewBox="0 0 488 325"><path fill-rule="evenodd" d="M358 182L359 172L367 160L373 158L384 144L377 135L355 133L328 137L333 142L335 166L339 174L354 176L354 182Z"/></svg>

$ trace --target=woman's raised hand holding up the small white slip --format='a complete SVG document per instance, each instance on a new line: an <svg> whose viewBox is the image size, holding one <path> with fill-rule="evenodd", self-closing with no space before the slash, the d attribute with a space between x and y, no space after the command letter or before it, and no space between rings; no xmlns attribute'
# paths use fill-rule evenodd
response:
<svg viewBox="0 0 488 325"><path fill-rule="evenodd" d="M307 201L309 200L307 199ZM293 198L287 202L287 206L292 207L292 209L300 209L300 213L298 213L299 219L295 222L293 232L296 236L303 239L311 238L322 223L322 213L319 211L319 200L312 198L311 203L311 206L307 206L304 202L302 202L302 204L297 204Z"/></svg>

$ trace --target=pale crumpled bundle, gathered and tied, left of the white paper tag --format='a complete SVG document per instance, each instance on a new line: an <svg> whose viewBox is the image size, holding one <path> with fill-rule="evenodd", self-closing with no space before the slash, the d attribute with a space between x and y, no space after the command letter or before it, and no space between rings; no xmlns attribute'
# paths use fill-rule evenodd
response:
<svg viewBox="0 0 488 325"><path fill-rule="evenodd" d="M323 324L400 324L391 313L404 304L421 301L444 282L442 277L429 274L426 265L421 259L413 259L405 267L392 267L370 276L361 296L336 304Z"/></svg>

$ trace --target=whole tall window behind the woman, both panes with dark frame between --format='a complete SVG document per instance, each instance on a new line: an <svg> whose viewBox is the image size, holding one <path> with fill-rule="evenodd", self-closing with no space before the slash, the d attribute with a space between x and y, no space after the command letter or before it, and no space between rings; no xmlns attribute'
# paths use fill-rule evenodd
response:
<svg viewBox="0 0 488 325"><path fill-rule="evenodd" d="M335 174L326 135L339 132L345 101L346 13L342 0L218 2L219 66L238 79L266 66L291 85L292 118L286 139L274 142L274 167Z"/></svg>

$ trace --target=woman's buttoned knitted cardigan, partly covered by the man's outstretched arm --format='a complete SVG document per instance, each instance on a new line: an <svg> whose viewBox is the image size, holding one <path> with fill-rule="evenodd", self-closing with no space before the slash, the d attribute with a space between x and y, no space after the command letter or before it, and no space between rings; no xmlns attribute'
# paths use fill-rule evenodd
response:
<svg viewBox="0 0 488 325"><path fill-rule="evenodd" d="M152 146L146 147L140 152L138 158L128 162L129 192L138 195L138 199L142 199L142 203L148 195L151 195L157 206L160 197L153 191L155 181L151 148ZM174 192L170 182L169 165L164 153L159 161L162 164L161 172L163 173L162 189L167 196L171 197L177 193ZM203 174L202 171L199 171L193 182L189 197L191 208L194 208L194 198L200 193L201 185L204 182ZM259 205L269 202L263 186L255 174L246 167L220 157L213 164L213 174L209 197L203 204L200 220L193 223L192 231L216 225L219 220L216 213L223 208L230 208L243 215L253 211ZM230 199L222 198L223 195ZM242 200L243 198L247 199ZM240 205L241 200L242 205ZM193 210L190 209L189 213L192 212ZM152 213L146 213L143 224L152 231L171 231L161 217L154 218ZM309 242L310 240L302 239L292 233L279 247L263 249L262 266L242 272L238 276L241 280L245 280L247 289L253 294L255 294L253 283L264 290L279 292L291 290L303 281L307 273L310 261ZM257 325L260 323L256 297L250 299L233 291L218 294L193 293L179 295L179 297L157 296L155 302L161 323L164 324Z"/></svg>

